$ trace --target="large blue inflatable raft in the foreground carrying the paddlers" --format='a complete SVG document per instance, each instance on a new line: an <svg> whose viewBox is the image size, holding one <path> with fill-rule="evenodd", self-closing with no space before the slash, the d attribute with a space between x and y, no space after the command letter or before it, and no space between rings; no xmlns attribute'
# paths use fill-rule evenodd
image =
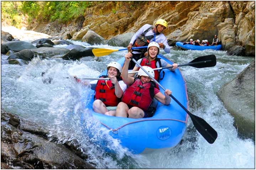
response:
<svg viewBox="0 0 256 170"><path fill-rule="evenodd" d="M173 63L162 55L158 57L169 64ZM125 58L122 57L118 62L123 66L124 60ZM168 69L164 71L165 77L159 83L166 89L170 89L172 95L188 109L186 81L180 69L176 69L175 72ZM106 74L107 70L101 75ZM162 89L160 91L164 94ZM93 94L94 90L90 90L87 96ZM171 100L169 105L157 101L154 116L141 119L111 117L95 113L92 109L93 102L94 99L91 97L91 101L85 107L100 121L101 126L111 130L110 135L113 138L118 139L121 145L132 153L148 153L174 147L180 142L186 130L188 114L174 100Z"/></svg>

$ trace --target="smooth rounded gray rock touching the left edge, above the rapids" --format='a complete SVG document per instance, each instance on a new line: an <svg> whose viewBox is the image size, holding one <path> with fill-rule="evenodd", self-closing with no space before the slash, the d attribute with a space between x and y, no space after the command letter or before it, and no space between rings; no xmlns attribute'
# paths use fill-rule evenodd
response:
<svg viewBox="0 0 256 170"><path fill-rule="evenodd" d="M9 50L17 52L24 49L37 49L37 47L25 41L9 41L9 42L4 42L1 45L1 53L6 53Z"/></svg>

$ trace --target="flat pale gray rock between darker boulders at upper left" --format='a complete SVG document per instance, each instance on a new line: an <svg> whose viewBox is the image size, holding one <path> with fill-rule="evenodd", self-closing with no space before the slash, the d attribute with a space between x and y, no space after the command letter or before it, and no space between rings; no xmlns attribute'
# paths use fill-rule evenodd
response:
<svg viewBox="0 0 256 170"><path fill-rule="evenodd" d="M44 58L61 58L70 50L58 47L40 47L38 49L32 49L34 55Z"/></svg>

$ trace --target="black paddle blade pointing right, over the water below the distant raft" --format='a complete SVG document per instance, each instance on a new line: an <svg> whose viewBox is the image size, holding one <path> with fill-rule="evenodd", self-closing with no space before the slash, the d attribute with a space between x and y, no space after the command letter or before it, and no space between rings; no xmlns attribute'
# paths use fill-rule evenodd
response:
<svg viewBox="0 0 256 170"><path fill-rule="evenodd" d="M205 68L205 67L213 67L216 66L216 56L208 55L197 57L188 63L188 66L196 67L196 68Z"/></svg>

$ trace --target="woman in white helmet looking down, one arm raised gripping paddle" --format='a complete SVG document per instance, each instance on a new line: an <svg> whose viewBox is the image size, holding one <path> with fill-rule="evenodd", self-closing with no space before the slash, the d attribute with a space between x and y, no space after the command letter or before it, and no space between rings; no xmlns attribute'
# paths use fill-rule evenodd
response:
<svg viewBox="0 0 256 170"><path fill-rule="evenodd" d="M152 117L153 114L148 114L150 105L155 98L163 104L170 104L171 91L166 89L163 95L156 87L155 82L142 69L138 72L138 77L133 78L128 76L128 66L131 60L130 54L125 55L125 64L122 70L122 77L124 83L129 87L124 91L122 102L117 105L116 116L128 118L147 118ZM155 72L151 67L142 66L152 77Z"/></svg>

